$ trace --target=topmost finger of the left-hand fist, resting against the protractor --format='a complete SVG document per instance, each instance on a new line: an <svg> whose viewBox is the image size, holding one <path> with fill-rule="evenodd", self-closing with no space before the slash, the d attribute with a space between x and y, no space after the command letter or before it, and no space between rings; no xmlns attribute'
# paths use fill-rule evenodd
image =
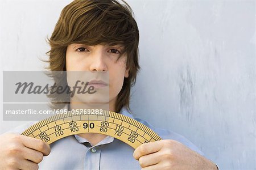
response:
<svg viewBox="0 0 256 170"><path fill-rule="evenodd" d="M44 156L49 155L49 153L51 152L51 148L46 142L41 141L40 139L26 137L24 135L21 136L24 146L42 152Z"/></svg>

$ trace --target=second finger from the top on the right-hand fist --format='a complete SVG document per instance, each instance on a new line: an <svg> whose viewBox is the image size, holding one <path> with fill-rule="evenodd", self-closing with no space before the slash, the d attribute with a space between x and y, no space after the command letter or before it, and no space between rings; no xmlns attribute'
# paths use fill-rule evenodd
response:
<svg viewBox="0 0 256 170"><path fill-rule="evenodd" d="M161 156L158 153L159 152L141 156L141 158L139 158L139 164L141 165L141 167L143 168L150 165L158 164L161 160Z"/></svg>

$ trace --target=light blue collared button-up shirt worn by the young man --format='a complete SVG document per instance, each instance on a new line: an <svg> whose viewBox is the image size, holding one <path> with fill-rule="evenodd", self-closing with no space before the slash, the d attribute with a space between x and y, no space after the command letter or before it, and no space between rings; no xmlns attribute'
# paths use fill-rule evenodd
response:
<svg viewBox="0 0 256 170"><path fill-rule="evenodd" d="M155 128L147 121L133 117L126 109L121 114L134 118L155 131L162 139L174 139L203 155L193 143L170 130ZM30 125L15 129L22 133ZM52 143L51 153L39 163L39 169L141 169L133 158L134 148L116 138L107 136L95 146L78 135L71 135Z"/></svg>

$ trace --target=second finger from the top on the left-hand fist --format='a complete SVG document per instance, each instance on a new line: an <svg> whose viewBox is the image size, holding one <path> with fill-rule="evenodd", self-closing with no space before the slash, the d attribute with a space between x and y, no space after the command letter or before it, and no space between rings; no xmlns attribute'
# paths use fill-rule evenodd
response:
<svg viewBox="0 0 256 170"><path fill-rule="evenodd" d="M40 162L42 162L43 160L43 153L33 150L31 148L25 148L23 153L23 158L27 159L27 160L31 160L32 162L38 164Z"/></svg>

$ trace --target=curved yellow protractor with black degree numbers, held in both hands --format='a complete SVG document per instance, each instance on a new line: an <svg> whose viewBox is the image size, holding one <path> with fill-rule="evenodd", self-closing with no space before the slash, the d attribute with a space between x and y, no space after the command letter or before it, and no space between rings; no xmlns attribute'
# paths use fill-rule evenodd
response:
<svg viewBox="0 0 256 170"><path fill-rule="evenodd" d="M80 133L109 135L133 148L142 143L161 140L158 134L141 122L102 109L82 109L79 113L56 114L30 126L22 135L51 144L61 138Z"/></svg>

